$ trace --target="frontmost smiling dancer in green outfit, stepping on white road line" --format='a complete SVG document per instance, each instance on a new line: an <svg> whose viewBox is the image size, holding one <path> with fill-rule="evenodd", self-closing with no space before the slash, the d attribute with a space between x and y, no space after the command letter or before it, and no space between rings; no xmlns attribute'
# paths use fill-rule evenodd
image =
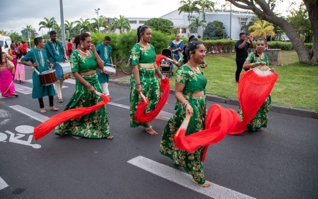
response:
<svg viewBox="0 0 318 199"><path fill-rule="evenodd" d="M177 149L173 142L173 136L187 114L192 117L189 121L186 135L202 131L205 126L206 103L204 91L207 80L200 68L197 67L205 56L204 45L199 41L190 41L183 49L184 65L178 68L176 72L176 114L169 119L168 124L164 128L160 143L160 153L171 158L174 165L184 167L185 171L192 175L193 182L203 187L208 187L211 184L204 180L201 161L204 146L188 153L185 150Z"/></svg>

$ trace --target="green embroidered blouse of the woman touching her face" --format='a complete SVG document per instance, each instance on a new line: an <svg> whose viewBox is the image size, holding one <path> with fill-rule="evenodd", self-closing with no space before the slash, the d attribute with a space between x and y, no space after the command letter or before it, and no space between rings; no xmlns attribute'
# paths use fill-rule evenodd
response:
<svg viewBox="0 0 318 199"><path fill-rule="evenodd" d="M92 51L89 51L92 57L83 57L77 51L74 51L70 56L70 64L73 72L85 73L97 68L97 61Z"/></svg>

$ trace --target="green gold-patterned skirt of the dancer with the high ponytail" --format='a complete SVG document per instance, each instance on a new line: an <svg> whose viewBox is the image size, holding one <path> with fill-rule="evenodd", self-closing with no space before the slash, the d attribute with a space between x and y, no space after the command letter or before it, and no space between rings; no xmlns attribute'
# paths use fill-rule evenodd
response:
<svg viewBox="0 0 318 199"><path fill-rule="evenodd" d="M142 86L142 94L147 97L149 103L145 109L145 113L153 111L160 100L160 83L155 75L155 69L139 68L140 84ZM130 78L130 127L139 125L147 127L148 123L139 123L135 120L135 112L142 97L136 90L136 81L134 73Z"/></svg>

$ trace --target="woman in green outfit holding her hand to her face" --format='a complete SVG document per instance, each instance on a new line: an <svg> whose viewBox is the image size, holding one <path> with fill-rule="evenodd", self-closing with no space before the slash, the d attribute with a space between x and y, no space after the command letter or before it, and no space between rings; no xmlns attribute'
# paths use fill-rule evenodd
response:
<svg viewBox="0 0 318 199"><path fill-rule="evenodd" d="M98 56L92 39L86 32L75 36L76 50L70 55L73 75L76 79L76 90L65 110L90 107L102 101L95 90L102 93L96 75L96 68L104 68L103 61ZM56 135L65 133L79 135L86 138L107 138L113 136L109 132L109 122L106 106L88 113L84 116L67 120L56 128Z"/></svg>

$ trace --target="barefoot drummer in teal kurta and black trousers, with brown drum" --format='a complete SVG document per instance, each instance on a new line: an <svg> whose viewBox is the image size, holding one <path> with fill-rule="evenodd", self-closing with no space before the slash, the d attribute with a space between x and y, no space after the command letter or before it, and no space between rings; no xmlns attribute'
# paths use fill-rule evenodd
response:
<svg viewBox="0 0 318 199"><path fill-rule="evenodd" d="M50 67L53 67L53 64L47 59L47 53L43 49L44 48L44 40L41 37L37 37L34 39L35 48L30 50L24 57L21 59L21 64L25 66L32 66L37 70L37 72L42 73L44 71L49 70L48 64ZM32 64L29 63L31 61ZM53 85L45 86L43 85L42 80L40 79L40 75L38 75L36 71L33 71L32 74L32 98L38 98L40 103L41 113L45 113L46 110L44 109L43 97L49 96L50 102L50 110L58 110L54 107L53 104L53 96L55 95Z"/></svg>

